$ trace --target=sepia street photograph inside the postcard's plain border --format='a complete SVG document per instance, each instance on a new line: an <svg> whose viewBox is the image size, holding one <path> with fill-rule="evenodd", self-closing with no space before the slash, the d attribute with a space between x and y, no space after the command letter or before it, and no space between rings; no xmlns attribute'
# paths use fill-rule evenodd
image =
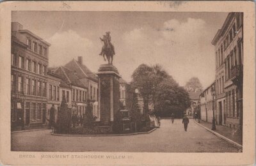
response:
<svg viewBox="0 0 256 166"><path fill-rule="evenodd" d="M11 151L243 153L243 15L12 11Z"/></svg>

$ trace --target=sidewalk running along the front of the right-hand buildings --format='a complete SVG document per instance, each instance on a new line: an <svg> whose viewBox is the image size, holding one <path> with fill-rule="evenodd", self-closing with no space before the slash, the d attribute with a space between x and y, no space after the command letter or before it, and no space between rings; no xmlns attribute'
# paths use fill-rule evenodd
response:
<svg viewBox="0 0 256 166"><path fill-rule="evenodd" d="M197 119L196 119L196 122L198 122ZM210 130L212 129L212 123L200 121L200 124L205 126L206 128L209 128ZM227 137L228 139L243 145L243 142L241 139L242 133L238 129L228 128L227 126L222 126L222 125L216 125L216 130L214 132L219 133L220 135L223 135L224 137Z"/></svg>

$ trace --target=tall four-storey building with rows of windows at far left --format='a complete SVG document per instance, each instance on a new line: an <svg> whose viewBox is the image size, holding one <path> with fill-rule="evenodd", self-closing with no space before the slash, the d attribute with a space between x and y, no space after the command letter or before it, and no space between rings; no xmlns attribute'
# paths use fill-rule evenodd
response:
<svg viewBox="0 0 256 166"><path fill-rule="evenodd" d="M19 22L12 22L12 129L42 127L47 105L46 84L50 44Z"/></svg>

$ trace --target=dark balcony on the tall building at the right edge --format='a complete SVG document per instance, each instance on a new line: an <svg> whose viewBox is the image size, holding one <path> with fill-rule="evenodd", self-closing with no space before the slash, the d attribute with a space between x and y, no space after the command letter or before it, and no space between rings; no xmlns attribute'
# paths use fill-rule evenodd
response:
<svg viewBox="0 0 256 166"><path fill-rule="evenodd" d="M231 68L231 79L232 82L239 86L243 84L243 65L236 65Z"/></svg>

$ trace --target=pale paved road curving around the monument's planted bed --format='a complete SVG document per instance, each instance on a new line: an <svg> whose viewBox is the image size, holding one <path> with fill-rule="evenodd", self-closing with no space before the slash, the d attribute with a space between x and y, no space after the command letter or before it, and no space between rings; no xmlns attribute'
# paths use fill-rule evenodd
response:
<svg viewBox="0 0 256 166"><path fill-rule="evenodd" d="M116 137L63 137L51 130L12 133L12 151L109 151L109 152L237 152L190 120L188 132L182 121L161 120L161 128L152 133Z"/></svg>

